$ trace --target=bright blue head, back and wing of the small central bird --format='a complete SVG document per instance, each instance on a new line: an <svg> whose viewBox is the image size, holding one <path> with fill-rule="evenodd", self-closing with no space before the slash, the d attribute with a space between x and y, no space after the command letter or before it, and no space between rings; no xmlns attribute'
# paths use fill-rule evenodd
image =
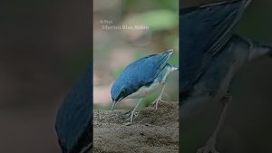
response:
<svg viewBox="0 0 272 153"><path fill-rule="evenodd" d="M152 54L131 62L114 81L112 99L117 99L122 89L126 89L126 95L129 95L142 86L150 86L166 65L170 54L171 52Z"/></svg>

